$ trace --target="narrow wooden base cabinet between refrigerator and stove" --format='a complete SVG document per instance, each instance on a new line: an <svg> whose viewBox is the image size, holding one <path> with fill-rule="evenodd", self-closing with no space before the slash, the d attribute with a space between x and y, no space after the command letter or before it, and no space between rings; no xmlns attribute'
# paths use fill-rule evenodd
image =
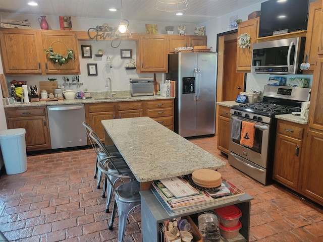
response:
<svg viewBox="0 0 323 242"><path fill-rule="evenodd" d="M218 149L228 155L230 139L230 107L218 105L218 108Z"/></svg>

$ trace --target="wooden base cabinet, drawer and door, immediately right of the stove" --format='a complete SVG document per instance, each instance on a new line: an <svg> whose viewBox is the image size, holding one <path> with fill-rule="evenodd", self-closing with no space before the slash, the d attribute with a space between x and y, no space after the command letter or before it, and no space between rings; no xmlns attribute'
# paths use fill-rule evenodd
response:
<svg viewBox="0 0 323 242"><path fill-rule="evenodd" d="M306 125L279 119L274 157L273 178L286 187L297 189Z"/></svg>

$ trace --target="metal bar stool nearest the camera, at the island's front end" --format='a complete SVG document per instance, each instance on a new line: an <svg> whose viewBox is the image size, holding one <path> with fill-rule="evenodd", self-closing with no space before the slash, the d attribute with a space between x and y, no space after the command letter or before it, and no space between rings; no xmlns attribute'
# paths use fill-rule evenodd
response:
<svg viewBox="0 0 323 242"><path fill-rule="evenodd" d="M97 168L105 174L111 187L115 192L115 203L112 210L112 216L109 223L109 230L113 229L113 222L118 209L119 227L118 227L118 242L123 242L125 238L127 219L129 213L136 207L140 206L140 183L138 181L130 181L129 183L122 184L116 187L116 184L110 179L111 176L118 178L129 178L127 174L116 174L109 171L109 164L114 166L114 161L110 157L103 158L97 162Z"/></svg>

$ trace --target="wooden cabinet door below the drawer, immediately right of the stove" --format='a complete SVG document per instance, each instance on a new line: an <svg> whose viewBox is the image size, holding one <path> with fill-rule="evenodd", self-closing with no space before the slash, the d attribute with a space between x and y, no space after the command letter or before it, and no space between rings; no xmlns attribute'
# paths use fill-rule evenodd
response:
<svg viewBox="0 0 323 242"><path fill-rule="evenodd" d="M276 136L273 178L295 189L298 185L301 144L300 140L292 137Z"/></svg>

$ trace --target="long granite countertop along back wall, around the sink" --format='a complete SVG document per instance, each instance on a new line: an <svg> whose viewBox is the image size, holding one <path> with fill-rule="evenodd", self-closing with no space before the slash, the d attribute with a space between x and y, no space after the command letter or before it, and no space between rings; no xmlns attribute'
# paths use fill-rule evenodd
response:
<svg viewBox="0 0 323 242"><path fill-rule="evenodd" d="M127 102L127 101L142 101L142 100L158 100L158 99L174 99L174 97L163 97L159 95L154 96L141 96L132 97L129 91L114 92L112 98L108 97L108 92L93 92L91 98L87 99L73 99L63 101L39 101L30 103L16 103L9 105L7 99L4 98L4 107L34 107L34 106L51 106L51 105L64 105L64 104L80 104L80 103L102 103L102 102Z"/></svg>

